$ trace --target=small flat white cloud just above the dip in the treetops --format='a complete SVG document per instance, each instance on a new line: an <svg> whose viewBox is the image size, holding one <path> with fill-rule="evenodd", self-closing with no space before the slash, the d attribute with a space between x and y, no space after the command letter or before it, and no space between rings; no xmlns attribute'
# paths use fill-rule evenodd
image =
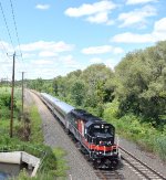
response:
<svg viewBox="0 0 166 180"><path fill-rule="evenodd" d="M104 54L104 53L121 54L124 51L121 47L113 47L111 45L90 46L82 50L83 54Z"/></svg>

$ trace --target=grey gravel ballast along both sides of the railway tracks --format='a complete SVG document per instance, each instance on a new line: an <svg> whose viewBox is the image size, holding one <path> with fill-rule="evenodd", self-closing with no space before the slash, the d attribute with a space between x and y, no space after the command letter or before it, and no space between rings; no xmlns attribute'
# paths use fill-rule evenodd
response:
<svg viewBox="0 0 166 180"><path fill-rule="evenodd" d="M64 133L62 126L55 120L54 116L48 110L45 105L31 92L27 92L25 99L27 104L30 105L35 103L40 116L42 118L42 128L44 135L44 144L51 146L52 148L61 147L66 151L66 161L70 167L68 171L69 180L97 180L93 168L84 159L82 153L76 149L74 142ZM166 177L166 165L164 165L158 157L143 151L134 142L126 139L120 138L120 146L135 155L138 159L149 165L153 169L157 170ZM133 169L123 163L118 170L124 179L126 180L141 180Z"/></svg>

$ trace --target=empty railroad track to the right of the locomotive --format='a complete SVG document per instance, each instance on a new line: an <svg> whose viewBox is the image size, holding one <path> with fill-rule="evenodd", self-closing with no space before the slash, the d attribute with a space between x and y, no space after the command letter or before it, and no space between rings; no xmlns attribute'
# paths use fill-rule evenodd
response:
<svg viewBox="0 0 166 180"><path fill-rule="evenodd" d="M132 153L120 148L122 152L122 159L125 163L127 163L131 168L134 169L135 173L139 176L141 179L147 180L166 180L166 177L151 168L148 165L142 162L139 159L134 157Z"/></svg>

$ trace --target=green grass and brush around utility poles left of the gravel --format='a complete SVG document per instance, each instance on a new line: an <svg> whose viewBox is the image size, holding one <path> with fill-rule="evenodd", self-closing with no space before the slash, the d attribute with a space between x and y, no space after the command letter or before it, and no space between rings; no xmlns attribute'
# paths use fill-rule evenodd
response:
<svg viewBox="0 0 166 180"><path fill-rule="evenodd" d="M9 89L9 91L8 91ZM0 93L9 94L10 88L0 88ZM15 89L14 93L17 110L21 108L21 92ZM43 145L43 134L42 134L42 123L38 108L32 105L31 107L25 107L27 113L24 113L24 118L20 119L19 113L14 109L13 119L13 138L9 137L10 119L4 116L0 118L0 150L24 150L33 156L43 158L41 169L37 177L32 179L37 180L53 180L58 177L65 179L66 174L66 162L64 160L65 152L61 148L48 147ZM2 114L3 115L3 114ZM22 136L24 135L24 127L30 127L30 138L28 141L23 141ZM29 128L25 128L25 131ZM29 180L31 179L24 171L22 171L17 180Z"/></svg>

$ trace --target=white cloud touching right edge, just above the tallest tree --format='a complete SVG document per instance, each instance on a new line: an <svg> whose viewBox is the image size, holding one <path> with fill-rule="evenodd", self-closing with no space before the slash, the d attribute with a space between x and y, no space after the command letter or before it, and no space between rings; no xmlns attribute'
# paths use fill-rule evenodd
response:
<svg viewBox="0 0 166 180"><path fill-rule="evenodd" d="M166 18L156 21L152 33L136 34L125 32L112 38L112 42L117 43L153 43L166 40Z"/></svg>

